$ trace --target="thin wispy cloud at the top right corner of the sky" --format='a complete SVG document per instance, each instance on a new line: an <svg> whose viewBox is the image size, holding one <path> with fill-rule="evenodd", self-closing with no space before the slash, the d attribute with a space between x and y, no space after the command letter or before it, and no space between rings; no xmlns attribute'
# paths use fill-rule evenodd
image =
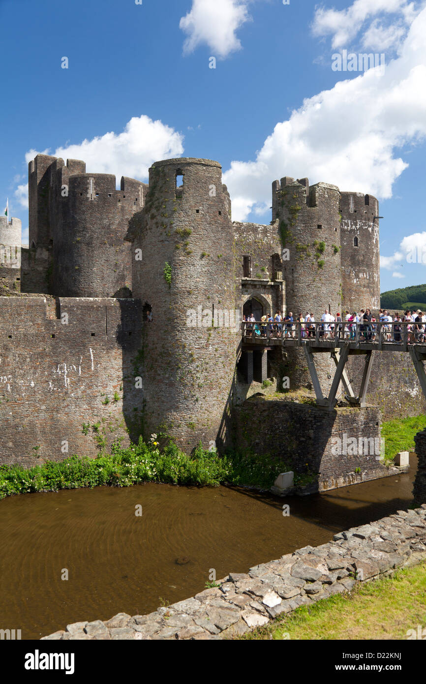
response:
<svg viewBox="0 0 426 684"><path fill-rule="evenodd" d="M328 10L321 5L315 11L312 33L321 37L331 35L333 48L348 47L363 25L373 17L398 14L401 22L409 25L422 5L424 3L408 0L355 0L345 10Z"/></svg>

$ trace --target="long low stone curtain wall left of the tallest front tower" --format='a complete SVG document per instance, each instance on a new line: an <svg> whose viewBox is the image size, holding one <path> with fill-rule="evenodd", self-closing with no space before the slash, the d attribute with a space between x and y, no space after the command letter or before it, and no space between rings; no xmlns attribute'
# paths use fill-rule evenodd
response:
<svg viewBox="0 0 426 684"><path fill-rule="evenodd" d="M0 298L1 463L95 456L96 435L137 436L141 318L135 300Z"/></svg>

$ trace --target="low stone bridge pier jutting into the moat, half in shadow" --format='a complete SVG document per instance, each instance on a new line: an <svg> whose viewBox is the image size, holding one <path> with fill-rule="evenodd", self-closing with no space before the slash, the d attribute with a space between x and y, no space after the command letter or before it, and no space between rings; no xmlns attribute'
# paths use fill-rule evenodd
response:
<svg viewBox="0 0 426 684"><path fill-rule="evenodd" d="M309 404L285 402L281 399L252 397L235 410L235 441L239 448L269 454L289 464L297 473L319 473L312 491L326 491L347 484L384 477L388 469L380 457L380 410L371 408L337 408L327 411ZM346 442L355 437L371 441L361 453L334 454L335 438ZM376 440L375 445L373 445Z"/></svg>

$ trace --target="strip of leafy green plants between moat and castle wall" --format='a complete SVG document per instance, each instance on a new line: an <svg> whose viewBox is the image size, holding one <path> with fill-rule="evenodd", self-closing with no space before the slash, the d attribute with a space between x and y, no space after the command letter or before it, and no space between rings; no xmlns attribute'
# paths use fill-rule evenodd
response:
<svg viewBox="0 0 426 684"><path fill-rule="evenodd" d="M111 453L96 458L70 456L63 461L47 461L25 469L0 466L0 499L26 492L49 492L59 489L101 485L129 487L142 482L217 486L219 484L254 485L269 488L289 464L271 456L254 453L230 453L220 457L215 451L199 446L191 456L174 443L160 450L157 443L122 447L114 443ZM297 476L304 482L307 473Z"/></svg>

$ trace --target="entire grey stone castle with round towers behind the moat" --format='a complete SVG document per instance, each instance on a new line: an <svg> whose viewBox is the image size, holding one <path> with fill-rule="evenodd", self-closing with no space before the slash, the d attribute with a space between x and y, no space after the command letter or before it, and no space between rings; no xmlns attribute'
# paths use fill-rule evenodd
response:
<svg viewBox="0 0 426 684"><path fill-rule="evenodd" d="M286 176L271 209L269 225L232 222L209 159L159 161L148 184L122 178L117 190L83 161L37 155L29 247L17 219L0 223L0 277L15 294L0 298L1 458L96 453L81 430L94 423L220 448L235 407L268 378L271 391L284 375L308 385L300 349L244 347L235 314L377 309L378 202Z"/></svg>

